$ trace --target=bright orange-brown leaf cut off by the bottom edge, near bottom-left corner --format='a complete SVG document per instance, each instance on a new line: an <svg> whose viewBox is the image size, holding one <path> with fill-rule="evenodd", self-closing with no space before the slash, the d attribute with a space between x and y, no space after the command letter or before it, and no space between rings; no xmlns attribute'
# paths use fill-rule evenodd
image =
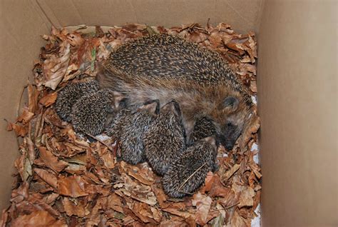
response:
<svg viewBox="0 0 338 227"><path fill-rule="evenodd" d="M14 219L11 226L43 227L43 226L67 226L61 220L53 218L47 211L34 211L29 215L22 215Z"/></svg>

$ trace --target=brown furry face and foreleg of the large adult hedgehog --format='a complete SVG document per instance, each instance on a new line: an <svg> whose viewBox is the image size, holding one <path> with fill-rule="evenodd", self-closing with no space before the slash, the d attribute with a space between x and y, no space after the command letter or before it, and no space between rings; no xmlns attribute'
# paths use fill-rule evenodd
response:
<svg viewBox="0 0 338 227"><path fill-rule="evenodd" d="M194 103L187 99L183 99L183 103L180 103L183 106L188 140L193 139L190 135L193 133L196 119L208 117L215 126L217 142L222 143L227 150L232 149L237 138L250 123L251 97L248 94L243 95L238 91L231 91L226 86L216 88L212 86L195 92L194 99Z"/></svg>

